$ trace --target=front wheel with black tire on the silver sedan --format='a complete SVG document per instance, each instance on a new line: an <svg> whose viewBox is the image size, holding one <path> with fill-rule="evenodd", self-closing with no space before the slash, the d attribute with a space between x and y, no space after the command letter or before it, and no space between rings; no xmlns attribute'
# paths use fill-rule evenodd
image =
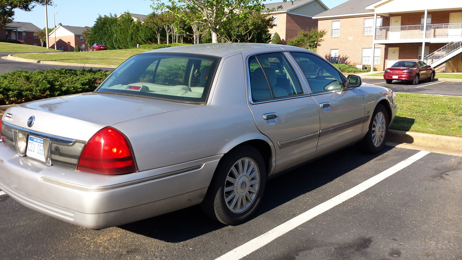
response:
<svg viewBox="0 0 462 260"><path fill-rule="evenodd" d="M360 142L361 149L368 154L382 151L388 135L388 112L383 105L377 105L372 114L366 136Z"/></svg>

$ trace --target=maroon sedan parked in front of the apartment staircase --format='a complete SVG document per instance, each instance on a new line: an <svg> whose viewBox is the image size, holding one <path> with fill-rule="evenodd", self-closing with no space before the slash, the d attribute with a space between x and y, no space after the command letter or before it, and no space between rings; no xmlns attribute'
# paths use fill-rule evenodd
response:
<svg viewBox="0 0 462 260"><path fill-rule="evenodd" d="M393 80L404 80L412 82L413 85L419 84L419 80L428 79L433 81L435 70L432 66L421 61L399 61L390 68L385 69L383 79L387 84Z"/></svg>

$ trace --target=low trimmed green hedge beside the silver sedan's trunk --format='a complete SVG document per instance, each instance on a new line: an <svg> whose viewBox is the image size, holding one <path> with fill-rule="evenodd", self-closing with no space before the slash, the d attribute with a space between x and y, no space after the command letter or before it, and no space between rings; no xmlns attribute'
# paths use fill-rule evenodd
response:
<svg viewBox="0 0 462 260"><path fill-rule="evenodd" d="M63 95L91 92L109 76L101 69L54 68L0 74L0 105L11 105Z"/></svg>

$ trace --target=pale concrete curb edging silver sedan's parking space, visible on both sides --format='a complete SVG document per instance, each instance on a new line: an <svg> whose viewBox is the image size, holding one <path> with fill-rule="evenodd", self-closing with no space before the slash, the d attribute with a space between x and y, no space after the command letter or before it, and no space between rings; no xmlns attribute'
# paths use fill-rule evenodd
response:
<svg viewBox="0 0 462 260"><path fill-rule="evenodd" d="M0 117L13 105L0 105ZM387 145L424 150L438 154L462 156L462 137L439 136L416 132L389 130Z"/></svg>

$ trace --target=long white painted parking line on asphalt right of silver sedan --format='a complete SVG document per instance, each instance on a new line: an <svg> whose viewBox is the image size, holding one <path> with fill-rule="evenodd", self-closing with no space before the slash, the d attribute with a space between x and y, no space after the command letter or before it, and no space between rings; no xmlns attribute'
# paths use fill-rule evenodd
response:
<svg viewBox="0 0 462 260"><path fill-rule="evenodd" d="M292 229L295 229L299 225L307 222L308 220L316 217L325 211L333 208L334 206L346 201L349 198L353 198L354 196L358 195L360 192L364 192L371 186L376 185L380 181L384 180L385 178L391 176L392 174L404 169L405 167L411 165L413 162L419 160L420 158L428 155L430 152L420 151L417 154L407 158L404 161L396 164L395 166L389 168L388 170L383 171L382 173L377 174L376 176L372 177L369 180L364 181L363 183L347 190L346 192L340 193L339 195L335 196L334 198L329 199L326 202L323 202L316 207L298 215L297 217L292 218L291 220L287 221L286 223L282 223L281 225L275 227L274 229L269 230L263 235L256 237L249 242L231 250L230 252L220 256L216 260L239 260L246 255L256 251L257 249L267 245L269 242L273 241L274 239L280 237L281 235L286 234Z"/></svg>

